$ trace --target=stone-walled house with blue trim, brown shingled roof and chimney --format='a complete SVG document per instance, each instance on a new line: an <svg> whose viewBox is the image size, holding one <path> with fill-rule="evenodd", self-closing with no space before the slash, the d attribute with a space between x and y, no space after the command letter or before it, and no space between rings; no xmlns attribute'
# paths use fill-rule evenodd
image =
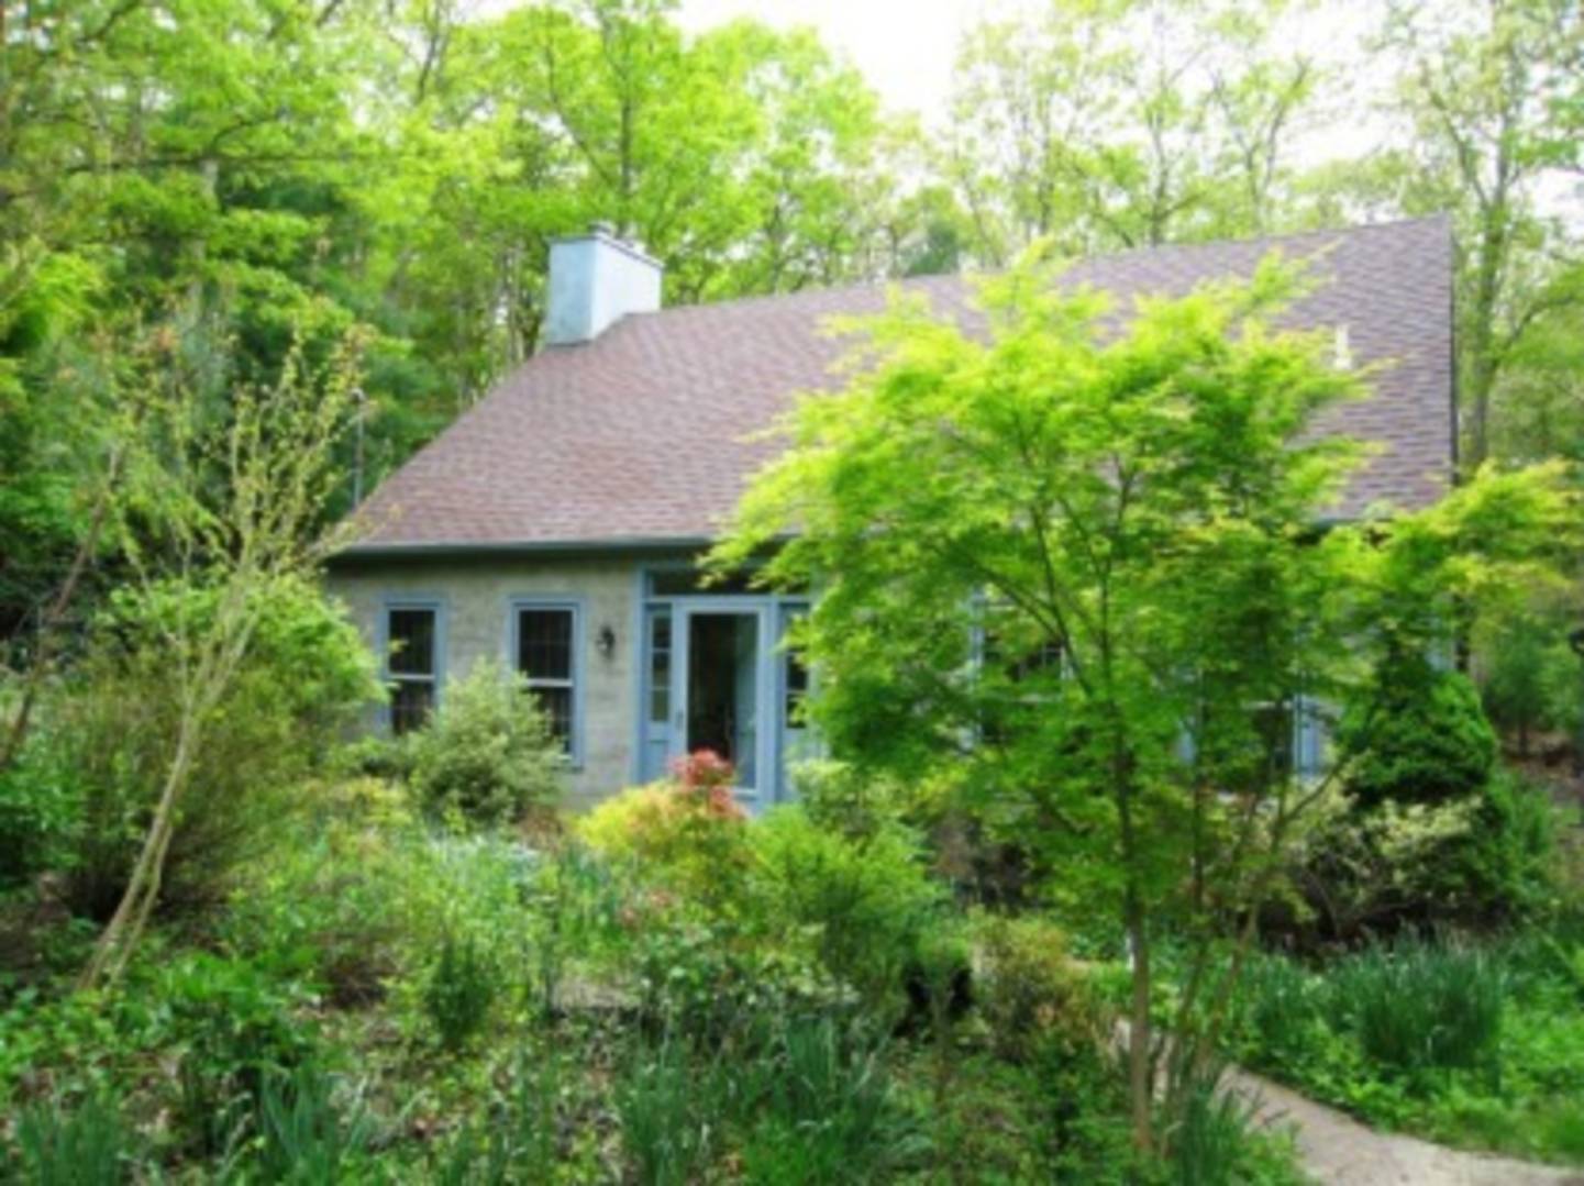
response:
<svg viewBox="0 0 1584 1186"><path fill-rule="evenodd" d="M1319 426L1378 445L1338 515L1434 500L1454 464L1446 220L1134 250L1064 282L1178 295L1274 249L1315 261L1291 321L1334 329L1353 364L1389 363ZM974 317L963 277L901 287ZM599 228L556 242L545 348L393 475L333 561L385 656L383 725L412 727L447 678L501 656L550 711L578 803L700 747L735 762L751 806L787 796L808 676L778 641L808 600L702 587L692 561L776 448L756 432L838 383L827 318L884 299L870 285L661 309L659 264L632 245Z"/></svg>

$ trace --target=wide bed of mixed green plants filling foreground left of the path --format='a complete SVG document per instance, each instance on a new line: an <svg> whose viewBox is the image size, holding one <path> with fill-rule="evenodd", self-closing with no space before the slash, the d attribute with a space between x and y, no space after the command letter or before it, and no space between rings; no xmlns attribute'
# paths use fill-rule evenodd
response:
<svg viewBox="0 0 1584 1186"><path fill-rule="evenodd" d="M24 1181L1293 1180L1213 1110L1139 1154L1060 928L954 901L892 812L751 822L699 755L527 838L369 768L410 757L331 755L116 985L6 974Z"/></svg>

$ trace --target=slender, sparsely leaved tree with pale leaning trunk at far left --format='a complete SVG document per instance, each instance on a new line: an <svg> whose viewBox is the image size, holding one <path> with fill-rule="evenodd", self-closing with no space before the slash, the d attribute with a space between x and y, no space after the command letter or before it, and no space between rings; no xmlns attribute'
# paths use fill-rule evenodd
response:
<svg viewBox="0 0 1584 1186"><path fill-rule="evenodd" d="M150 619L168 648L174 741L138 860L84 985L120 977L154 912L193 766L269 611L269 592L312 578L329 545L317 526L337 480L334 445L355 386L352 353L325 372L293 353L272 388L234 394L234 415L214 434L179 375L176 359L157 358L147 397L127 426L135 445L111 504L146 600L174 599L174 613ZM193 592L201 594L201 616L184 610Z"/></svg>

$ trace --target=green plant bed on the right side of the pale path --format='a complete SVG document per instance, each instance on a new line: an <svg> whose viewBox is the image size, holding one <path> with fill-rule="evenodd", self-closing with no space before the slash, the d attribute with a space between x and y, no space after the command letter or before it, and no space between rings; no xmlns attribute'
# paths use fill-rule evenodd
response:
<svg viewBox="0 0 1584 1186"><path fill-rule="evenodd" d="M1237 1058L1373 1124L1584 1165L1576 933L1411 937L1248 969Z"/></svg>

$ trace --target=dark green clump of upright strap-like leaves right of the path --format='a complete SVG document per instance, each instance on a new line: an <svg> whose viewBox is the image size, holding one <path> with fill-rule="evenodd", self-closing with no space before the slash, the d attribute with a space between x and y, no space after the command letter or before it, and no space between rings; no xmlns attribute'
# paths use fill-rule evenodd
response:
<svg viewBox="0 0 1584 1186"><path fill-rule="evenodd" d="M1486 952L1453 942L1370 947L1331 974L1334 1024L1392 1070L1495 1072L1506 974Z"/></svg>

